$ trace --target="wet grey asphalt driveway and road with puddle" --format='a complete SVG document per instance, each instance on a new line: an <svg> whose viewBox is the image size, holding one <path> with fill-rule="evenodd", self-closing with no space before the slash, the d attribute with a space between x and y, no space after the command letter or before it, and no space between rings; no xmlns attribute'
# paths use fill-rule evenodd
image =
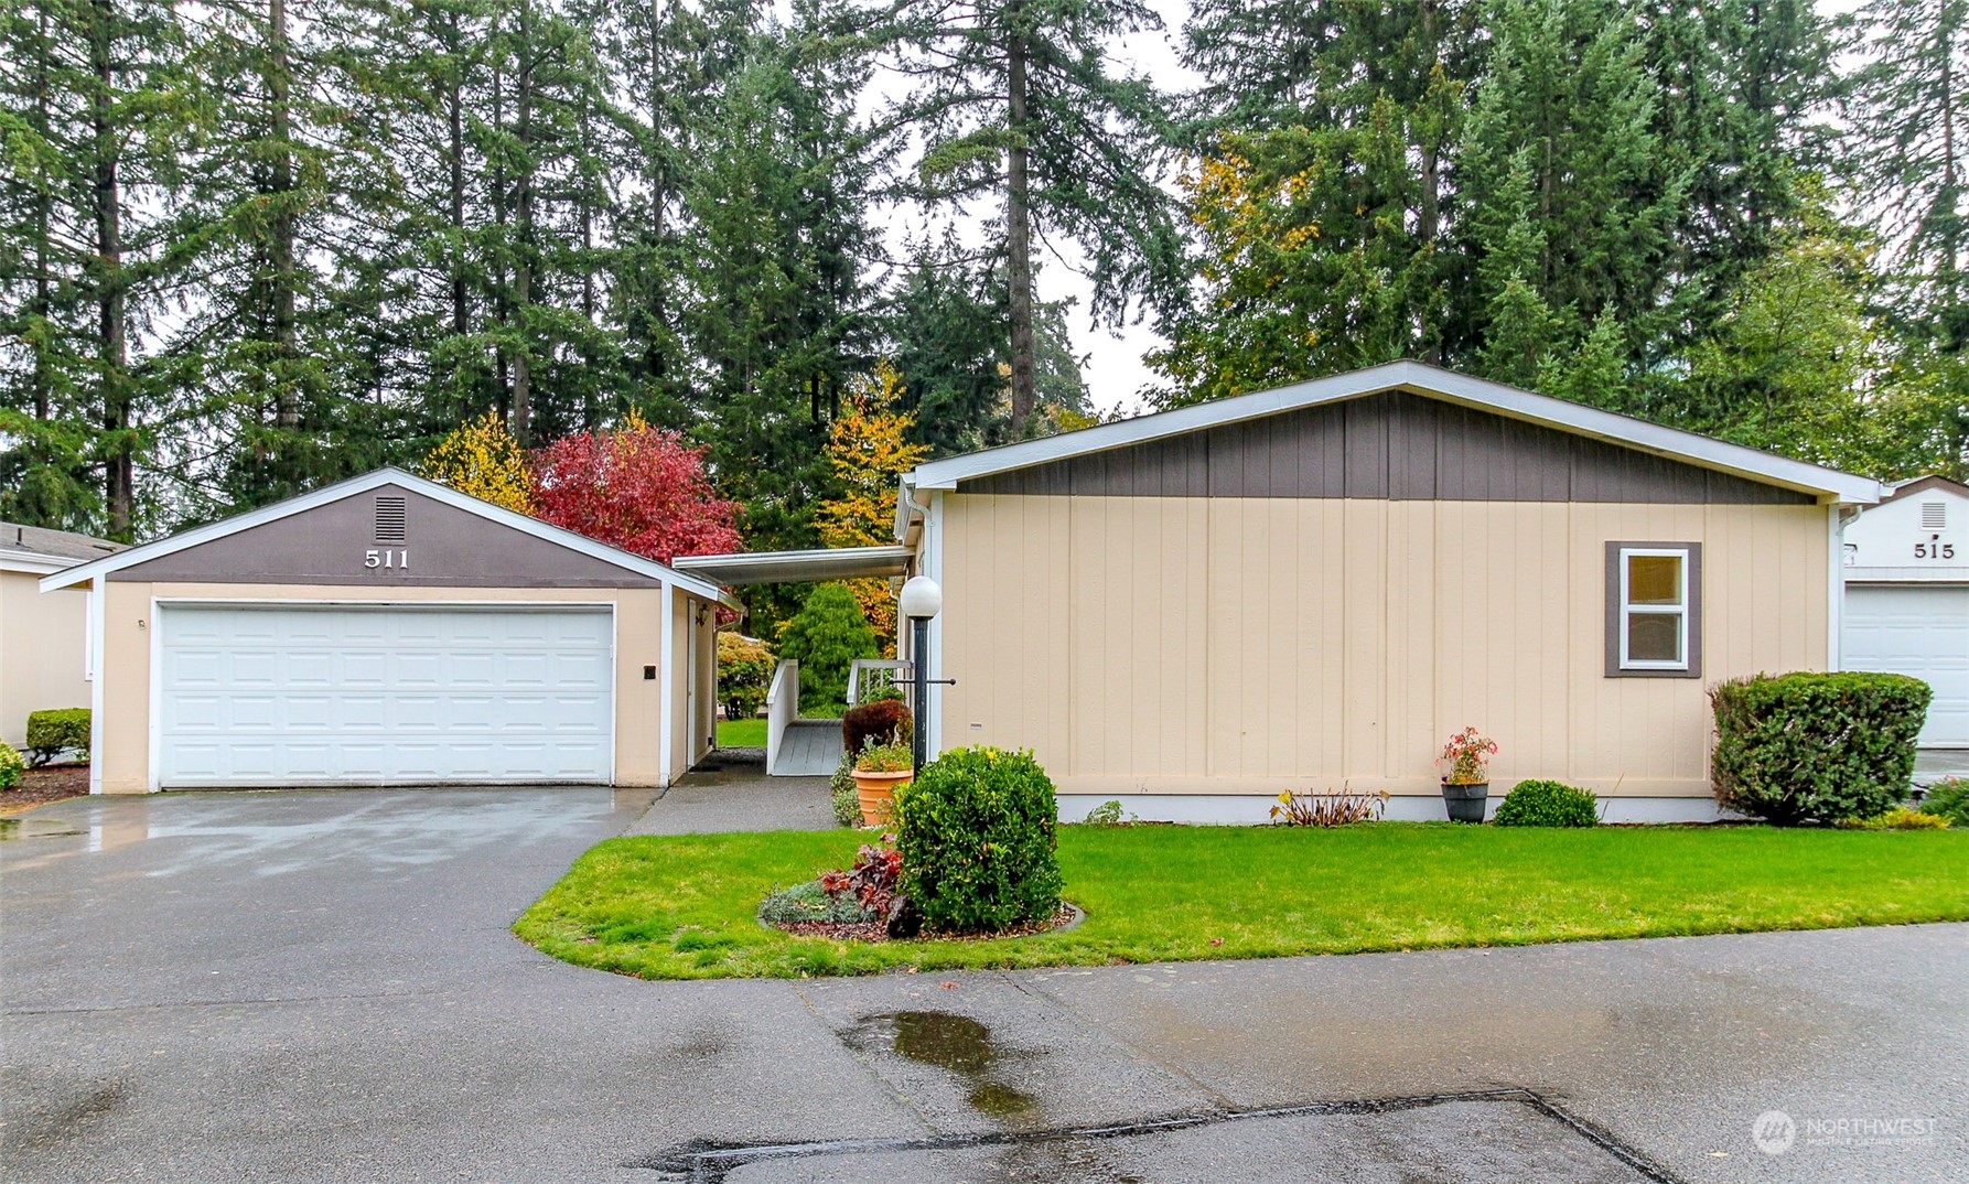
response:
<svg viewBox="0 0 1969 1184"><path fill-rule="evenodd" d="M799 983L508 934L601 837L825 823L776 794L35 810L0 841L4 1176L1969 1176L1969 926Z"/></svg>

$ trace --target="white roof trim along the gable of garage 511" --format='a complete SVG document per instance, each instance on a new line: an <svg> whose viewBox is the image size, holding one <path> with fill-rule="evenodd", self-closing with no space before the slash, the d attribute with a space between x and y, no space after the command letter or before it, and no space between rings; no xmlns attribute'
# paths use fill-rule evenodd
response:
<svg viewBox="0 0 1969 1184"><path fill-rule="evenodd" d="M656 559L646 559L634 552L624 552L622 548L612 548L604 542L595 542L585 534L575 534L573 530L561 530L559 526L551 526L547 522L541 522L540 518L530 518L526 514L518 514L504 506L494 506L492 502L484 502L475 496L463 494L451 487L437 485L435 481L425 481L423 477L413 477L410 473L404 473L402 469L388 469L388 467L376 469L374 473L364 473L362 477L350 477L349 481L327 485L313 493L291 496L284 502L260 506L258 510L248 510L244 514L234 514L230 518L222 518L207 526L195 526L191 530L183 530L169 538L159 538L144 546L134 546L114 556L98 558L75 567L61 569L55 575L49 575L41 581L41 591L53 591L57 587L73 587L77 583L89 583L93 579L108 575L110 571L118 571L122 567L130 567L136 563L146 563L150 559L159 559L163 556L171 556L187 548L195 548L199 544L224 538L228 534L238 534L240 530L250 530L254 526L278 522L291 514L313 510L315 506L325 506L329 502L339 502L347 496L366 493L380 485L400 485L427 498L445 502L447 506L478 514L480 518L488 518L502 526L510 526L514 530L532 534L534 538L543 538L567 550L581 552L583 556L614 563L624 571L634 571L636 575L646 575L652 579L662 579L666 583L675 583L677 587L697 593L705 599L725 603L732 609L738 607L738 603L729 593L719 589L719 585L709 583L697 575L685 575L675 567L658 563Z"/></svg>

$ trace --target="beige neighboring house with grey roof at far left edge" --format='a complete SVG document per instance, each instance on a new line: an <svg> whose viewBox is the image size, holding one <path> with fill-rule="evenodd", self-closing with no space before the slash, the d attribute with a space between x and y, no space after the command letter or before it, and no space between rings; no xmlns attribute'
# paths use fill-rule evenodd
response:
<svg viewBox="0 0 1969 1184"><path fill-rule="evenodd" d="M122 546L0 522L0 741L20 747L28 715L89 705L89 597L43 597L43 575Z"/></svg>

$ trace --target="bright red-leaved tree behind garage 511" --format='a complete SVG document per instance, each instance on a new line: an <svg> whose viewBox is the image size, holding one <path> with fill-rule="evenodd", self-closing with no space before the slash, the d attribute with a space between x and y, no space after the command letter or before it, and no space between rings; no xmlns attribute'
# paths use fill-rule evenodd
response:
<svg viewBox="0 0 1969 1184"><path fill-rule="evenodd" d="M660 563L744 546L738 502L711 489L705 449L634 412L622 428L534 453L534 504L545 522Z"/></svg>

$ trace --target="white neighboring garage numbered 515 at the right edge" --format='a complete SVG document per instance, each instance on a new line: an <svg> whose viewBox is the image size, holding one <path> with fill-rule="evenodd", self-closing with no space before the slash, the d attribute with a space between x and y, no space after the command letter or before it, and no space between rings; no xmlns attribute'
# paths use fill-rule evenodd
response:
<svg viewBox="0 0 1969 1184"><path fill-rule="evenodd" d="M1849 670L1934 688L1920 780L1969 774L1969 487L1904 481L1847 526L1839 648Z"/></svg>

